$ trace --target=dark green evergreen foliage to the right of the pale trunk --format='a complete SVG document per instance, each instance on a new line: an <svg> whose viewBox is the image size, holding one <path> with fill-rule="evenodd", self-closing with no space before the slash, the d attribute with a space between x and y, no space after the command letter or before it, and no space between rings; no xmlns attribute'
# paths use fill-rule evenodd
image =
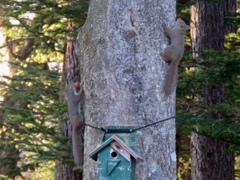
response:
<svg viewBox="0 0 240 180"><path fill-rule="evenodd" d="M178 16L187 21L189 8L194 3L195 0L178 0ZM238 9L239 3L240 1L237 1ZM239 17L239 13L225 12L224 26L239 27ZM187 51L179 67L177 87L179 179L191 179L189 147L191 131L233 144L236 161L239 162L240 29L236 33L226 34L223 52L213 50L194 52L195 58L190 51L189 36L190 34L186 37ZM207 104L204 101L205 91L214 86L218 88L219 83L224 85L225 91L221 104ZM212 118L213 114L221 118L215 120ZM239 163L236 163L235 168L235 176L240 177Z"/></svg>

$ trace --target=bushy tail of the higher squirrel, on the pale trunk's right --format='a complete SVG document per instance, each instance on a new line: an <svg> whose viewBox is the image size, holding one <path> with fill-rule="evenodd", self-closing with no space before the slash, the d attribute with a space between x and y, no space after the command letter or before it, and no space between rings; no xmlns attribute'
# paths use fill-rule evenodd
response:
<svg viewBox="0 0 240 180"><path fill-rule="evenodd" d="M164 85L164 93L169 96L177 84L177 76L178 76L178 65L174 63L170 63L170 67L167 72L167 78Z"/></svg>

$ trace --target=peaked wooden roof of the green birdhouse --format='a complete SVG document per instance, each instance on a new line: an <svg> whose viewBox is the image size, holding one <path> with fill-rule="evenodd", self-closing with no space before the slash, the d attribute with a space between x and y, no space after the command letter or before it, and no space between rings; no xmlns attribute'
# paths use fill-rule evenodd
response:
<svg viewBox="0 0 240 180"><path fill-rule="evenodd" d="M124 148L125 151L127 151L133 158L135 158L137 161L142 162L143 158L132 148L130 148L125 142L123 142L120 138L113 135L109 139L107 139L101 146L96 148L90 153L90 157L97 161L98 154L107 146L109 146L112 142L116 141L119 145L121 145L122 148ZM114 147L113 147L114 148ZM115 149L117 151L117 149Z"/></svg>

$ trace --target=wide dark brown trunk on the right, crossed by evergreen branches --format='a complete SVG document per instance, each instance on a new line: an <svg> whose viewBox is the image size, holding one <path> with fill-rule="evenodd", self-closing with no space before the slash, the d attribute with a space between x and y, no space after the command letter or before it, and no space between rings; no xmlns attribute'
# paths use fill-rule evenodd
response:
<svg viewBox="0 0 240 180"><path fill-rule="evenodd" d="M223 1L198 1L191 7L192 51L222 51L224 46L224 4ZM224 95L223 84L206 82L211 87L205 91L203 101L208 104L220 104ZM212 114L219 119L217 114ZM234 155L228 143L191 135L191 176L194 180L234 179ZM229 150L225 152L225 150Z"/></svg>

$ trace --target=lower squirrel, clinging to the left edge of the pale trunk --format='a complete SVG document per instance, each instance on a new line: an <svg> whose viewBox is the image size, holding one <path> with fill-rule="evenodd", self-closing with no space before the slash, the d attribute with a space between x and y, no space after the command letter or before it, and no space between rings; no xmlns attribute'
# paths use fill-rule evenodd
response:
<svg viewBox="0 0 240 180"><path fill-rule="evenodd" d="M80 101L83 98L83 90L78 82L72 83L63 92L67 104L70 122L72 125L72 148L74 162L77 166L83 165L83 130L84 118L80 112Z"/></svg>

